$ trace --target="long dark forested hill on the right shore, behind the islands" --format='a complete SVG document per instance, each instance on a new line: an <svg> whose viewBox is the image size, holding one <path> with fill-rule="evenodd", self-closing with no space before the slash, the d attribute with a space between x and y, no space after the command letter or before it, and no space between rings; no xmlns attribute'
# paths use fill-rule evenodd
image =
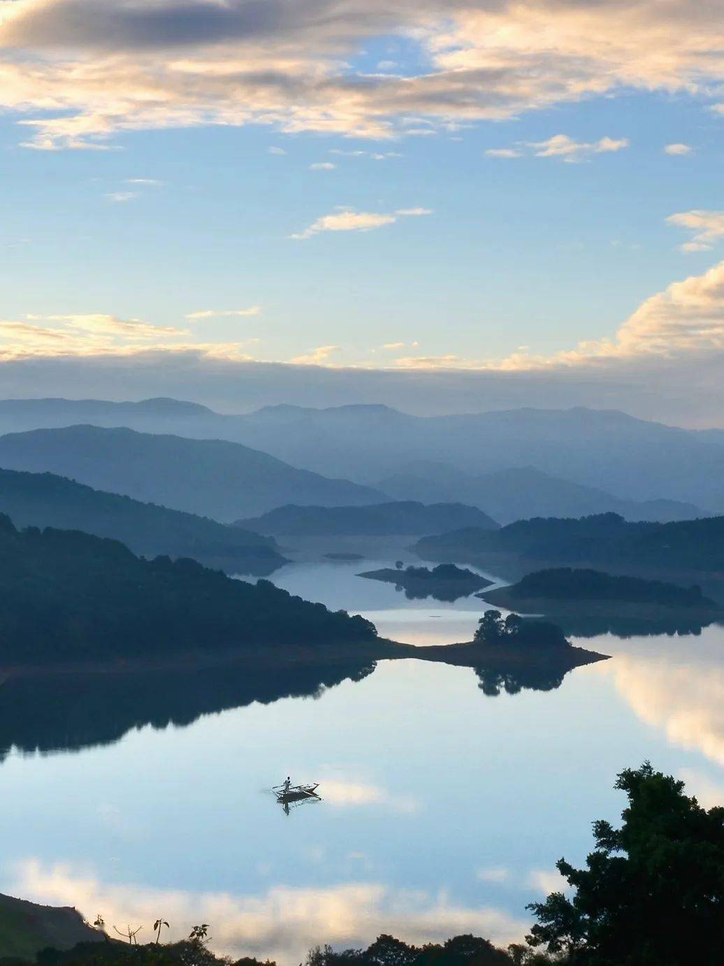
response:
<svg viewBox="0 0 724 966"><path fill-rule="evenodd" d="M515 554L526 560L600 563L724 571L724 517L670 524L627 523L615 513L579 520L519 520L499 530L468 527L423 537L415 545L431 560L478 559Z"/></svg>

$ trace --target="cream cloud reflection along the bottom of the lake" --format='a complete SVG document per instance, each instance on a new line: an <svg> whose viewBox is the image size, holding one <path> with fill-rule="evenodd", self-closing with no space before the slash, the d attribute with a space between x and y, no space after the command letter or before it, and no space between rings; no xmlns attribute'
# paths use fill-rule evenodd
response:
<svg viewBox="0 0 724 966"><path fill-rule="evenodd" d="M185 937L194 923L210 924L214 952L267 956L297 963L321 941L336 948L363 947L381 932L422 945L472 932L504 946L519 941L526 923L487 906L464 906L440 892L429 895L375 882L329 887L277 886L261 895L195 893L138 883L104 883L74 867L46 867L30 859L14 867L9 890L42 903L74 906L93 919L100 909L108 928L151 923L163 910L168 939Z"/></svg>

